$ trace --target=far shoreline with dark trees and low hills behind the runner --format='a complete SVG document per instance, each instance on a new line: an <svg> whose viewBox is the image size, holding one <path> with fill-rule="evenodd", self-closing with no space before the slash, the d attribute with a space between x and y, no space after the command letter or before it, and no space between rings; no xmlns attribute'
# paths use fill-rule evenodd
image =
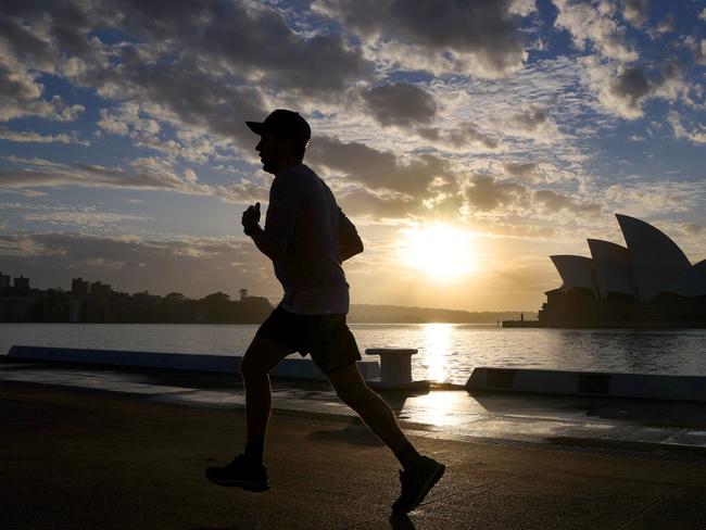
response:
<svg viewBox="0 0 706 530"><path fill-rule="evenodd" d="M0 321L4 323L92 323L92 324L261 324L274 310L264 296L252 296L247 289L239 299L214 292L190 299L179 292L164 296L148 291L129 294L101 281L72 279L72 289L34 289L29 278L18 276L14 285L9 275L0 283ZM520 311L469 312L439 307L351 304L352 324L496 324L535 313Z"/></svg>

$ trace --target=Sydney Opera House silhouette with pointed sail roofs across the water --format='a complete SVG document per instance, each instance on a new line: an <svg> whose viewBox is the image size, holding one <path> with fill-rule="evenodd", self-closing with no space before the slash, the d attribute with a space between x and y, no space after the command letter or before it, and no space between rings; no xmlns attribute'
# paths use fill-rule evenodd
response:
<svg viewBox="0 0 706 530"><path fill-rule="evenodd" d="M654 226L616 214L627 247L589 239L591 257L550 256L562 286L539 312L547 327L706 327L706 260L695 265Z"/></svg>

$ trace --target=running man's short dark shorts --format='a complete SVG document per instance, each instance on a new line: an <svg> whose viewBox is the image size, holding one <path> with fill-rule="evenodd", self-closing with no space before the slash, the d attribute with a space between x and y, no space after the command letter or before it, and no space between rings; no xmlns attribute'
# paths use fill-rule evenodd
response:
<svg viewBox="0 0 706 530"><path fill-rule="evenodd" d="M345 314L300 315L277 306L255 336L285 344L302 357L311 354L324 374L332 374L361 359Z"/></svg>

